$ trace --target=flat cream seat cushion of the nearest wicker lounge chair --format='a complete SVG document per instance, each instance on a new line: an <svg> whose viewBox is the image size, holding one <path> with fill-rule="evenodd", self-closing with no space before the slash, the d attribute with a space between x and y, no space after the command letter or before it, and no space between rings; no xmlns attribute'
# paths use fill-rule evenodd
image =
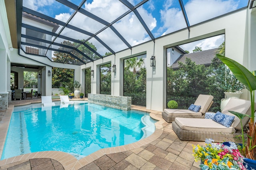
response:
<svg viewBox="0 0 256 170"><path fill-rule="evenodd" d="M188 118L176 117L175 123L177 123L177 125L183 130L224 132L224 133L236 132L235 128L233 127L227 128L213 121L212 119L193 118L193 121L191 121L191 119L188 119Z"/></svg>

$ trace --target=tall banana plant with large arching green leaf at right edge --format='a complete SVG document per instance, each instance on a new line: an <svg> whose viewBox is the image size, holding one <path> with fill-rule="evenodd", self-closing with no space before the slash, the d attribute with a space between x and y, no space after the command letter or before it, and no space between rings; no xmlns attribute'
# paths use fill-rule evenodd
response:
<svg viewBox="0 0 256 170"><path fill-rule="evenodd" d="M256 76L254 73L250 72L240 63L224 57L222 55L216 54L217 57L226 64L232 73L236 76L238 81L245 85L246 89L250 91L251 99L251 116L249 122L249 131L247 132L247 145L242 146L245 150L246 158L255 160L256 158L256 123L254 123L254 90L256 90ZM230 112L231 113L231 112ZM239 117L240 119L241 117ZM243 127L242 127L243 128Z"/></svg>

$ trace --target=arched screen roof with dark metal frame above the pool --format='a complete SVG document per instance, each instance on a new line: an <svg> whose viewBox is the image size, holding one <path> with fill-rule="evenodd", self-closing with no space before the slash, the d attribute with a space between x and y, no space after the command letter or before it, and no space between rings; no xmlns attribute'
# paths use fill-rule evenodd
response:
<svg viewBox="0 0 256 170"><path fill-rule="evenodd" d="M212 4L217 12L199 12L204 5L200 2ZM217 9L214 3L225 6ZM42 52L34 54L42 57L50 53L52 61L82 65L178 30L190 31L193 25L249 4L250 0L16 0L17 45L26 53L27 47L39 49ZM56 55L62 59L56 60Z"/></svg>

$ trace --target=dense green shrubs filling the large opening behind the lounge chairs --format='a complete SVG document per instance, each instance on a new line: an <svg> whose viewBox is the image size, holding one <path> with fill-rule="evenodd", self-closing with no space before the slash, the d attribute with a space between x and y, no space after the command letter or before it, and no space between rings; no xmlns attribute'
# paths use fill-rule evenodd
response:
<svg viewBox="0 0 256 170"><path fill-rule="evenodd" d="M195 49L198 50L200 47L195 47ZM217 53L224 54L224 52L225 42L217 50ZM166 102L177 101L179 109L187 109L199 94L208 94L214 97L214 104L210 111L220 111L220 101L224 98L223 92L226 89L240 90L243 88L240 82L233 79L234 76L230 74L230 70L226 70L227 68L218 57L212 59L210 67L196 65L189 58L186 58L185 63L178 63L180 65L178 70L167 68ZM232 81L229 81L230 79Z"/></svg>

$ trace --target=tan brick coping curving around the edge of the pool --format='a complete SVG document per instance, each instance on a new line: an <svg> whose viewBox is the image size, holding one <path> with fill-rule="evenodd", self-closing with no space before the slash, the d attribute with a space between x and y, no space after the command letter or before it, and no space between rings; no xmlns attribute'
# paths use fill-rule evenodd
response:
<svg viewBox="0 0 256 170"><path fill-rule="evenodd" d="M32 103L34 103L34 102L32 102ZM0 156L2 156L4 142L5 142L5 139L7 136L8 127L10 124L10 119L11 119L12 111L13 111L14 107L28 105L28 104L32 104L32 103L26 103L26 104L21 104L21 105L9 105L9 107L6 111L6 114L2 118L2 121L0 122ZM35 102L35 103L40 103L40 102ZM60 162L60 164L62 164L64 169L78 170L78 169L82 168L83 166L90 164L94 160L96 160L106 154L124 152L127 150L139 148L141 146L149 144L150 142L153 142L154 140L156 140L158 137L161 136L161 134L164 130L162 124L165 123L165 121L162 119L162 116L160 116L160 115L162 115L162 112L153 111L150 109L146 109L145 107L134 106L134 105L132 105L131 109L149 113L149 115L152 119L158 121L155 123L156 130L154 131L153 134L151 134L150 136L148 136L142 140L139 140L139 141L131 143L131 144L126 144L123 146L115 146L115 147L111 147L111 148L102 148L102 149L100 149L96 152L93 152L92 154L85 156L84 158L81 158L79 160L76 157L74 157L71 154L68 154L66 152L42 151L42 152L33 152L33 153L29 153L29 154L22 154L19 156L14 156L12 158L0 160L0 166L4 166L6 164L10 164L10 163L14 163L14 162L29 160L32 158L51 158L51 159L54 159L54 160Z"/></svg>

